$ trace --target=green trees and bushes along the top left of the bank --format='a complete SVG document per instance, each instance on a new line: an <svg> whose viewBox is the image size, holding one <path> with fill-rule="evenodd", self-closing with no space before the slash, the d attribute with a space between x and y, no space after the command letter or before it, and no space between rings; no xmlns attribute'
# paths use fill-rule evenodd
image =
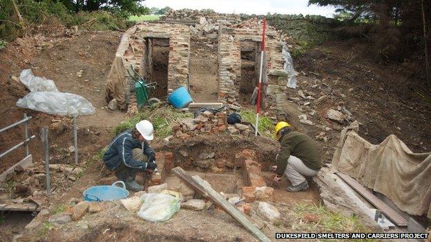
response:
<svg viewBox="0 0 431 242"><path fill-rule="evenodd" d="M10 0L0 0L0 37L6 41L30 34L35 26L57 23L66 27L79 26L87 30L119 30L126 28L132 14L149 9L140 6L142 0L16 0L23 23L19 22ZM79 12L77 12L79 10ZM77 13L76 13L77 12Z"/></svg>

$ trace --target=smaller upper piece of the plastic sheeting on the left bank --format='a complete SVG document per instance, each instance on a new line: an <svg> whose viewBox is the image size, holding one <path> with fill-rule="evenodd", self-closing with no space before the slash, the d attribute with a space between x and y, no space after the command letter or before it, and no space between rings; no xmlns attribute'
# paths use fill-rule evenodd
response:
<svg viewBox="0 0 431 242"><path fill-rule="evenodd" d="M26 85L30 92L58 92L54 81L45 77L35 77L30 69L23 70L19 75L19 81Z"/></svg>

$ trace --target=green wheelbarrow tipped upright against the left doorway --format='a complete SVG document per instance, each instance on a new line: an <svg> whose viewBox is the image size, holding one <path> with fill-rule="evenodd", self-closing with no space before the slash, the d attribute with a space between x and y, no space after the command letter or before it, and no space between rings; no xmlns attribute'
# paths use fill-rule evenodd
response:
<svg viewBox="0 0 431 242"><path fill-rule="evenodd" d="M132 77L133 81L135 81L135 94L137 101L137 108L141 108L143 105L155 105L156 103L160 103L159 99L155 97L149 98L151 92L153 92L157 86L156 82L146 83L144 77L142 77L139 73L135 71L133 65L131 65L131 70L133 70L133 74L129 70L127 70L128 75Z"/></svg>

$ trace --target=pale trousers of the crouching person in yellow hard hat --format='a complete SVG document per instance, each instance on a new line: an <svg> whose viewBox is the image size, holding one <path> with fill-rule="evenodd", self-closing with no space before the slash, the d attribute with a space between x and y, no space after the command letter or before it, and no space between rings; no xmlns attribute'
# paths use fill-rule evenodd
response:
<svg viewBox="0 0 431 242"><path fill-rule="evenodd" d="M287 166L285 174L291 185L299 185L306 181L305 177L313 177L317 174L318 170L307 168L298 157L291 155L287 159Z"/></svg>

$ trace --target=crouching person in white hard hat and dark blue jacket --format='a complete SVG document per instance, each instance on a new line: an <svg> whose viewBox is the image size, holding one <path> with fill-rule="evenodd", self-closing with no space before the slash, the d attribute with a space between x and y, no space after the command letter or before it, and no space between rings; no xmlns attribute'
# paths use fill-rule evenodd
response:
<svg viewBox="0 0 431 242"><path fill-rule="evenodd" d="M153 172L157 168L155 152L147 142L153 140L153 132L150 121L140 121L133 130L126 130L115 137L103 155L106 167L113 170L115 176L133 192L144 188L135 181L136 172Z"/></svg>

